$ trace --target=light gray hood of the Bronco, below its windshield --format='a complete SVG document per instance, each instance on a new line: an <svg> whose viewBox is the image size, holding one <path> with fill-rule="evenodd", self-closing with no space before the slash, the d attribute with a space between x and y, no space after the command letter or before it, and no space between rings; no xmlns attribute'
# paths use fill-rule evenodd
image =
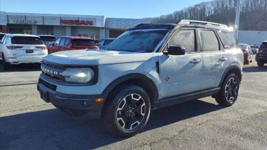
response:
<svg viewBox="0 0 267 150"><path fill-rule="evenodd" d="M63 65L103 65L146 61L152 56L153 53L83 49L55 52L43 60Z"/></svg>

